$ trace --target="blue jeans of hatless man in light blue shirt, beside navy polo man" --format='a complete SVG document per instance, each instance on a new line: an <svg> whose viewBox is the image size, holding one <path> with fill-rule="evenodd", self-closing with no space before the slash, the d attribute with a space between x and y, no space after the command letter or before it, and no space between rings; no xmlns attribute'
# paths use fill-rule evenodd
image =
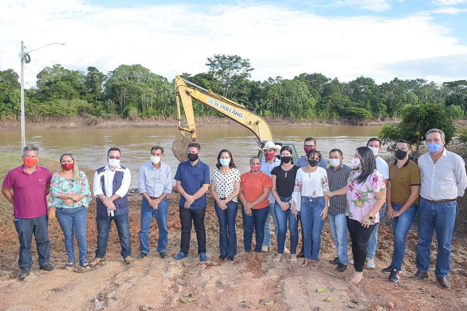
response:
<svg viewBox="0 0 467 311"><path fill-rule="evenodd" d="M149 228L151 228L152 218L156 218L157 228L159 228L159 238L157 239L157 252L165 252L167 248L167 214L169 213L169 202L167 197L158 204L157 209L149 205L144 197L141 201L141 229L138 232L140 237L140 251L149 254Z"/></svg>

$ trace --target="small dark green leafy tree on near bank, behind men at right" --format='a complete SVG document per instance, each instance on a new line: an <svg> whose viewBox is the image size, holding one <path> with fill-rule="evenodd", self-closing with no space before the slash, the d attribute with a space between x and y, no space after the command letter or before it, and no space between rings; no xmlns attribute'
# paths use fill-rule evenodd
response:
<svg viewBox="0 0 467 311"><path fill-rule="evenodd" d="M418 159L420 145L425 142L427 131L436 128L444 131L446 144L449 144L456 133L453 119L441 104L407 104L399 113L402 121L395 125L382 125L378 137L383 144L391 147L396 145L399 139L407 139L417 149L412 152L414 161Z"/></svg>

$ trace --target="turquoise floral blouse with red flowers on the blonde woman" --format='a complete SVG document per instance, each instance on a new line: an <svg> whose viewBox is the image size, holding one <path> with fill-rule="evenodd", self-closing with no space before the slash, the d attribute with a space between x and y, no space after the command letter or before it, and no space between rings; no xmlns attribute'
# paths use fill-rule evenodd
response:
<svg viewBox="0 0 467 311"><path fill-rule="evenodd" d="M71 205L66 205L64 199L57 197L62 194L85 194L86 196L78 202L73 202ZM89 181L83 171L79 171L79 181L76 182L72 178L64 178L60 174L54 173L52 180L50 180L50 198L49 206L62 207L62 208L75 208L75 207L88 207L89 202L92 200L91 189L89 188Z"/></svg>

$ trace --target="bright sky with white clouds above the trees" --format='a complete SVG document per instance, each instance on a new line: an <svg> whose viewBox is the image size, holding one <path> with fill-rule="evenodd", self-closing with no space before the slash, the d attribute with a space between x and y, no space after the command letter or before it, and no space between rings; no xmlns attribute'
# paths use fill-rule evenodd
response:
<svg viewBox="0 0 467 311"><path fill-rule="evenodd" d="M175 3L175 4L174 4ZM107 73L142 64L172 80L206 57L249 58L252 79L321 72L443 82L467 79L467 0L0 0L0 70L26 87L45 66Z"/></svg>

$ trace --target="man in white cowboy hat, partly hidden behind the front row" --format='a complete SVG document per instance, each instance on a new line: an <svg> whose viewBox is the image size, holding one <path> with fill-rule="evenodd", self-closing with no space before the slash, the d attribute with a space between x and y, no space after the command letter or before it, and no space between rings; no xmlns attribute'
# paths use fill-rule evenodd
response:
<svg viewBox="0 0 467 311"><path fill-rule="evenodd" d="M267 141L264 144L264 147L260 148L258 147L259 150L262 150L264 152L264 159L261 161L261 171L265 174L267 174L269 177L271 177L271 171L274 167L281 165L281 160L276 158L276 154L279 154L281 150L280 145L274 144L272 141ZM272 220L274 221L274 231L276 232L277 236L277 220L276 220L276 214L274 213L274 203L276 200L272 196L272 192L269 193L269 212L272 214ZM266 224L264 225L264 241L262 245L262 251L267 252L269 247L271 246L271 231L269 229L269 215L268 218L266 218ZM290 251L285 248L284 245L284 254L290 254Z"/></svg>

